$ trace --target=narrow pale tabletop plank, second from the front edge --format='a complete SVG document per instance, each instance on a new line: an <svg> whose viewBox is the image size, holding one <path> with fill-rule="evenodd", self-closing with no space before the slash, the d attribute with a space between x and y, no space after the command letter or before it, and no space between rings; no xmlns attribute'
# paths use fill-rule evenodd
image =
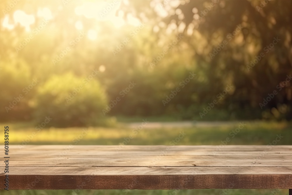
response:
<svg viewBox="0 0 292 195"><path fill-rule="evenodd" d="M11 167L292 167L289 160L212 161L212 160L27 160L10 161ZM0 167L5 167L4 161Z"/></svg>

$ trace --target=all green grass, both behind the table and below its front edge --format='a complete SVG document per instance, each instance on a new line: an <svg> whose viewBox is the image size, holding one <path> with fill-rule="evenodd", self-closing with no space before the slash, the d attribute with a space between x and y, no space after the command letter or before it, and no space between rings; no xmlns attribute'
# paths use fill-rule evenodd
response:
<svg viewBox="0 0 292 195"><path fill-rule="evenodd" d="M148 120L148 118L147 118ZM138 120L136 120L137 122ZM141 120L140 120L141 121ZM139 121L138 121L139 122ZM142 121L141 121L142 122ZM169 142L178 137L180 132L186 133L185 137L178 142L178 145L219 145L221 141L227 137L231 139L228 145L231 144L256 144L267 145L277 135L284 136L278 145L292 145L291 133L292 124L288 122L245 122L246 126L241 129L233 138L230 132L235 130L239 122L221 124L217 127L189 127L189 128L143 128L138 134L133 134L133 129L120 124L119 127L88 127L86 134L81 137L84 128L47 128L40 132L35 130L31 123L13 123L1 124L9 126L10 129L10 144L22 144L27 139L28 144L80 144L80 145L113 145L124 141L124 138L133 135L133 139L128 145L169 145ZM147 126L146 126L147 127ZM4 130L1 129L1 134ZM35 132L35 136L30 136ZM78 138L79 136L79 138ZM30 138L29 138L30 137ZM78 141L79 140L79 141ZM1 143L3 144L3 143ZM231 189L229 192L221 189L198 189L198 190L180 190L177 194L187 195L207 195L207 194L251 194L251 195L270 195L273 189ZM0 190L0 194L18 195L25 192L27 195L75 195L72 190L9 190L9 192ZM173 190L80 190L77 194L80 195L95 195L95 194L157 194L169 195L176 194ZM288 190L281 190L277 195L286 195Z"/></svg>

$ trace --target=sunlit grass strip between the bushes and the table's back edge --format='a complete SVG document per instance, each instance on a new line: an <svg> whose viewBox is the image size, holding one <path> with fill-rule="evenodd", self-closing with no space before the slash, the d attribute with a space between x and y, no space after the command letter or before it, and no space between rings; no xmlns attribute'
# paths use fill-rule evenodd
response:
<svg viewBox="0 0 292 195"><path fill-rule="evenodd" d="M148 119L147 119L148 120ZM76 143L78 136L81 145L117 145L124 138L133 135L128 145L169 145L169 142L184 132L187 135L178 142L178 145L218 145L227 137L231 139L228 144L256 144L266 145L273 141L278 134L284 136L279 145L292 145L292 124L287 122L245 122L246 126L234 137L230 132L234 131L239 122L226 123L217 127L188 127L188 128L143 128L138 134L133 133L133 128L124 125L119 127L72 127L72 128L47 128L41 131L35 130L31 124L16 123L9 125L11 129L10 144L22 144L25 139L28 144L72 144ZM86 134L81 133L86 129ZM1 131L4 131L3 129ZM31 136L35 132L35 136ZM83 133L84 134L84 133ZM29 138L32 137L32 138Z"/></svg>

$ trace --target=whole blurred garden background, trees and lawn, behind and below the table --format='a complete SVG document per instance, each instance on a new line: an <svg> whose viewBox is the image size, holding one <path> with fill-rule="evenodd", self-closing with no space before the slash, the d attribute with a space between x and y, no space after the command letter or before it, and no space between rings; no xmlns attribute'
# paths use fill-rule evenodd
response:
<svg viewBox="0 0 292 195"><path fill-rule="evenodd" d="M292 85L285 82L292 73L291 1L123 0L101 17L113 2L1 0L0 122L13 130L11 143L22 144L41 128L27 144L70 144L87 128L77 144L119 144L132 131L131 122L147 118L189 120L194 125L148 128L130 144L167 145L185 131L188 136L181 145L219 145L241 120L248 120L248 125L230 144L266 145L280 133L284 138L279 144L292 144ZM177 36L183 38L174 42ZM274 39L279 42L267 50ZM261 53L264 56L251 68L251 61ZM190 73L196 75L183 87ZM131 83L135 85L130 89ZM227 85L232 89L219 100ZM177 87L180 91L164 105ZM261 108L274 90L277 94ZM199 113L214 100L218 103L201 117ZM111 103L115 105L109 108ZM52 120L44 123L46 117ZM227 122L200 123L218 120ZM72 194L69 190L25 192ZM172 192L81 190L78 194ZM271 190L228 194L270 195Z"/></svg>

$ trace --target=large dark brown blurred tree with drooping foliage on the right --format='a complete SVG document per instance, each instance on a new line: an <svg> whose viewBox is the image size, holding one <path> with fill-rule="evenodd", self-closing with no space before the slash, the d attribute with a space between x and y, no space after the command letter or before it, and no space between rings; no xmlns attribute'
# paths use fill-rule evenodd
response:
<svg viewBox="0 0 292 195"><path fill-rule="evenodd" d="M292 118L291 84L279 87L292 73L292 2L198 0L155 5L149 0L144 6L129 1L122 9L125 15L132 13L141 20L151 13L146 14L148 18L166 23L167 27L160 27L159 37L173 26L173 32L186 35L184 40L208 80L204 82L208 94L197 91L200 103L212 101L226 84L232 84L235 90L225 99L225 109L240 118L261 118L259 103L276 90L263 110L280 111L284 105L288 108L281 112L286 119Z"/></svg>

